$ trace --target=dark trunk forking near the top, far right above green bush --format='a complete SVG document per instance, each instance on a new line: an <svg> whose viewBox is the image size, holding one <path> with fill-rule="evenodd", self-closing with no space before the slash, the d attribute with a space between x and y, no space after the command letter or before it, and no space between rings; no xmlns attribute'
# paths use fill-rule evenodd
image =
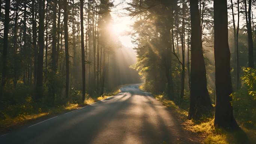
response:
<svg viewBox="0 0 256 144"><path fill-rule="evenodd" d="M246 13L246 26L247 26L247 33L248 33L248 54L249 54L248 66L251 68L254 68L252 22L251 22L252 0L249 0L248 13L247 13L247 0L244 0L244 10Z"/></svg>

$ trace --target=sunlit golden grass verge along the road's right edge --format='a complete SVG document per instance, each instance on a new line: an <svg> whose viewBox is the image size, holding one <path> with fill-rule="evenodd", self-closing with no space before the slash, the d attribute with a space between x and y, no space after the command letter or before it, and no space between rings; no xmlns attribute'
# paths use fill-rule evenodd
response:
<svg viewBox="0 0 256 144"><path fill-rule="evenodd" d="M144 90L144 85L140 86ZM188 106L177 106L173 101L164 98L163 95L153 95L156 99L162 102L163 105L169 108L174 115L179 119L185 131L188 131L195 137L199 137L198 141L203 144L255 144L256 130L247 129L240 125L240 129L224 130L214 128L214 118L205 117L199 121L188 120ZM188 105L188 104L187 104ZM239 124L239 122L238 122Z"/></svg>

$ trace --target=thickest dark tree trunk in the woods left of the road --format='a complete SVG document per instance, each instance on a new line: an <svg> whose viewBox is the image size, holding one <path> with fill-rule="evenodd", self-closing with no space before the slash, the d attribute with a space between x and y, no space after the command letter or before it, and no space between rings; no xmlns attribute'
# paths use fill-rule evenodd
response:
<svg viewBox="0 0 256 144"><path fill-rule="evenodd" d="M42 97L43 93L43 31L44 31L44 0L39 0L39 32L38 32L38 45L39 53L37 56L37 77L36 77L36 95L35 99Z"/></svg>

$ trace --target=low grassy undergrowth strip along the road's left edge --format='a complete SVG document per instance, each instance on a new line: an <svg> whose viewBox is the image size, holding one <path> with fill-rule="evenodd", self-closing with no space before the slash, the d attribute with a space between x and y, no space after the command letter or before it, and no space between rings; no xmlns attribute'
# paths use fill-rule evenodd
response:
<svg viewBox="0 0 256 144"><path fill-rule="evenodd" d="M21 105L23 109L26 111L25 113L22 111L18 111L21 109L18 108L12 108L10 107L9 113L4 114L4 119L0 119L0 131L4 131L12 126L18 126L22 125L23 123L26 123L28 120L33 120L33 119L39 119L40 117L45 117L50 114L59 114L63 113L65 111L69 110L75 110L80 107L83 107L84 105L89 105L93 104L94 102L109 98L110 96L116 95L120 92L120 90L116 90L110 93L104 93L102 96L99 97L92 97L86 94L86 99L84 102L80 102L79 100L82 99L81 92L78 90L73 89L73 94L70 96L71 98L66 104L59 104L56 105L55 107L48 107L47 109L42 109L39 108L39 110L32 110L33 107L33 102L29 102L29 105ZM31 98L28 98L31 101ZM27 108L30 108L27 110ZM11 109L16 110L16 115L12 116L12 111ZM6 110L8 111L8 110Z"/></svg>

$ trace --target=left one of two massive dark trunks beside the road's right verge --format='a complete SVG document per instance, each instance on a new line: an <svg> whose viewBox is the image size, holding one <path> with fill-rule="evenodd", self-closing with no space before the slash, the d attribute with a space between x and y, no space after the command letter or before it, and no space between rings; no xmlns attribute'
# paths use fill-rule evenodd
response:
<svg viewBox="0 0 256 144"><path fill-rule="evenodd" d="M199 119L210 113L211 99L207 90L206 70L202 51L198 1L190 2L191 15L191 90L189 119Z"/></svg>

